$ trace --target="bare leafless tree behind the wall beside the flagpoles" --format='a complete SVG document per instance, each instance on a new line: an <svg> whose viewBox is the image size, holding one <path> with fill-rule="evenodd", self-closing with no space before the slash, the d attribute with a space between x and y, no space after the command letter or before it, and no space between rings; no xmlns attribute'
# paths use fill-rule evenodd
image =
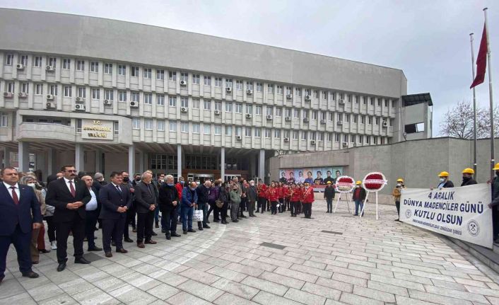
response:
<svg viewBox="0 0 499 305"><path fill-rule="evenodd" d="M494 136L499 136L499 109L494 109ZM473 105L464 101L447 110L440 122L440 135L459 139L473 139ZM491 116L488 108L476 108L476 137L491 137Z"/></svg>

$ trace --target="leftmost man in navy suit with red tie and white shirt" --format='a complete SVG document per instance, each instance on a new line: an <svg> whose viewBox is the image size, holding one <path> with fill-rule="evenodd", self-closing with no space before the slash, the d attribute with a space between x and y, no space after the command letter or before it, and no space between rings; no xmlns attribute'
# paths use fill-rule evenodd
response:
<svg viewBox="0 0 499 305"><path fill-rule="evenodd" d="M33 188L18 185L16 168L6 167L0 176L0 283L4 280L6 258L13 243L18 255L19 270L23 277L35 278L31 270L31 231L42 227L42 212Z"/></svg>

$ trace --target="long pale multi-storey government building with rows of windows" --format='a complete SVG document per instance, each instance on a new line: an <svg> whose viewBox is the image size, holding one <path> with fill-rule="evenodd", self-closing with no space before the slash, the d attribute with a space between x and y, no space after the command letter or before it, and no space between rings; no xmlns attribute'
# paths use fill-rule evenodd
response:
<svg viewBox="0 0 499 305"><path fill-rule="evenodd" d="M400 69L0 8L3 163L44 179L63 163L106 176L263 177L276 152L431 137L429 94L406 90Z"/></svg>

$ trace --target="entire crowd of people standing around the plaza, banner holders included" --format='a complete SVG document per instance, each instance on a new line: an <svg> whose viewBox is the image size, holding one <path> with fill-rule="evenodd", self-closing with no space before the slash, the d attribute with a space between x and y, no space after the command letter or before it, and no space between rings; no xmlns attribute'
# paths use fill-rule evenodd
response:
<svg viewBox="0 0 499 305"><path fill-rule="evenodd" d="M498 214L499 163L493 169L497 176L489 181L493 189L489 207L495 211L493 214ZM473 169L464 169L462 186L476 184L473 174ZM201 184L179 177L175 183L172 175L159 174L153 178L152 171L136 173L132 179L126 171L112 172L110 180L106 181L102 173L93 176L78 173L72 165L62 166L59 173L49 175L45 185L37 180L35 173L18 173L10 166L0 171L0 178L0 283L4 279L6 255L11 244L16 248L23 277L39 276L33 272L32 265L39 263L40 253L50 251L45 248L45 231L51 250L57 251L57 271L61 272L68 260L69 236L73 236L74 263L89 264L90 261L83 257L85 242L87 251L104 251L107 258L113 255L112 247L116 253L127 253L124 242L134 243L129 234L130 226L136 233L136 246L145 248L147 244L156 243L153 236L158 234L153 227L161 227L162 234L170 240L181 237L177 233L178 225L182 226L182 234L194 234L194 222L198 231L211 229L211 213L212 221L225 225L264 212L276 215L288 211L290 217L303 213L304 218L310 219L315 201L314 188L309 181L272 181L266 185L261 180L236 177L230 181L206 180ZM454 187L449 173L443 171L439 178L437 188ZM333 212L335 183L334 178L325 182L323 194L327 213ZM403 188L404 179L397 179L392 191L397 214ZM356 182L351 196L358 216L366 200L366 190L360 181ZM494 216L493 223L497 238L498 215ZM95 243L98 229L102 229L102 248Z"/></svg>

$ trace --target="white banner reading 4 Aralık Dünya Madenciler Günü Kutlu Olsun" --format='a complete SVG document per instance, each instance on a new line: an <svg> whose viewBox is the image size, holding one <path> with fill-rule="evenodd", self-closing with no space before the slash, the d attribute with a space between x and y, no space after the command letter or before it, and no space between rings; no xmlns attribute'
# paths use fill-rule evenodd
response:
<svg viewBox="0 0 499 305"><path fill-rule="evenodd" d="M408 188L400 198L400 220L445 236L492 248L491 186Z"/></svg>

